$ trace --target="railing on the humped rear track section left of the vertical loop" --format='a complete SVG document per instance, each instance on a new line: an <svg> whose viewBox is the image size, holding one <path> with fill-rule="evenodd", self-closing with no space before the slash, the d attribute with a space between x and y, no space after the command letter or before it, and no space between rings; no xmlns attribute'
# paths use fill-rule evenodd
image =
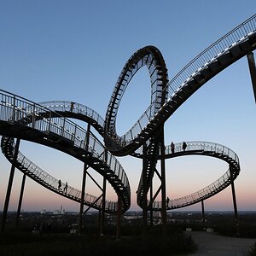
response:
<svg viewBox="0 0 256 256"><path fill-rule="evenodd" d="M102 129L104 128L105 120L102 118L102 116L99 113L96 113L96 111L93 110L92 108L89 108L77 102L49 101L49 102L39 102L38 104L40 106L44 106L44 108L50 109L51 111L61 111L61 112L68 111L73 113L81 113L84 116L95 120L96 123L102 127Z"/></svg>

